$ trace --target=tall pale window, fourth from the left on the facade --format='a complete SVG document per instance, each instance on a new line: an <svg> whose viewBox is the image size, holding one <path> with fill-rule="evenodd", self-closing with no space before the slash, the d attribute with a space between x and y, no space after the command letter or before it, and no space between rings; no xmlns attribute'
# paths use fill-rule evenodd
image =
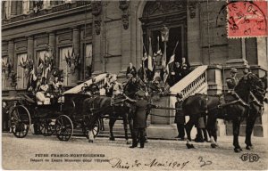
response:
<svg viewBox="0 0 268 171"><path fill-rule="evenodd" d="M63 85L68 85L68 83L71 82L71 77L68 77L70 68L66 61L66 58L71 56L71 50L71 46L60 49L60 69L63 69Z"/></svg>

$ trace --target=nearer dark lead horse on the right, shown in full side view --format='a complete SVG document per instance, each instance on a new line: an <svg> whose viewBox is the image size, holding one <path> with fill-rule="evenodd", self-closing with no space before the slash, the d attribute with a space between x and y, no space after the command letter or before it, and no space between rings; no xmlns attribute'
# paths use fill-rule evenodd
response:
<svg viewBox="0 0 268 171"><path fill-rule="evenodd" d="M260 79L255 74L248 73L242 77L236 85L234 92L221 95L195 94L188 97L182 104L182 109L189 116L186 124L188 140L191 141L190 131L192 126L197 123L198 118L207 117L207 131L211 137L212 147L216 146L217 141L217 118L232 121L233 126L233 145L234 151L242 151L239 146L239 127L243 118L247 118L249 105L247 104L250 91L259 85Z"/></svg>

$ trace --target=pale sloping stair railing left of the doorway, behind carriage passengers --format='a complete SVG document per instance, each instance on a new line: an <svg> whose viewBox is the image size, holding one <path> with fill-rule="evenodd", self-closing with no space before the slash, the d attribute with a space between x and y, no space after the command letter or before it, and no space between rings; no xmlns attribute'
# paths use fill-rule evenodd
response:
<svg viewBox="0 0 268 171"><path fill-rule="evenodd" d="M95 77L96 78L96 85L98 85L99 89L104 87L104 85L105 85L105 77L106 76L107 76L107 73L100 74L100 75ZM88 84L88 85L91 85L92 84L92 79L89 79L88 81L71 88L70 90L64 92L64 94L79 94L81 92L82 87L84 86L85 83Z"/></svg>

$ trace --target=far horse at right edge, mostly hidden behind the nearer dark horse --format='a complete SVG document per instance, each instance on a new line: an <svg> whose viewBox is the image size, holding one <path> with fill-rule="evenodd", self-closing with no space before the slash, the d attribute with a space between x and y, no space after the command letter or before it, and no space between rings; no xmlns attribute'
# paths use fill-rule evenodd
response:
<svg viewBox="0 0 268 171"><path fill-rule="evenodd" d="M267 93L267 73L264 77L260 77L261 82L256 86L249 94L249 114L247 117L247 126L246 126L246 149L253 149L253 145L251 142L251 134L253 131L253 127L255 125L256 118L262 116L264 112L264 102L267 103L267 99L265 98L265 94Z"/></svg>

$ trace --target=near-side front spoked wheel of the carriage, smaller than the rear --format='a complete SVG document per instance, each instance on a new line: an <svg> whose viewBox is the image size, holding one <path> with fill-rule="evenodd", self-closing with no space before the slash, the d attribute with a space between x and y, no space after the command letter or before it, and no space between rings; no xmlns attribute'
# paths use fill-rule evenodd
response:
<svg viewBox="0 0 268 171"><path fill-rule="evenodd" d="M68 141L73 133L71 118L66 115L59 116L55 121L55 132L60 141Z"/></svg>

